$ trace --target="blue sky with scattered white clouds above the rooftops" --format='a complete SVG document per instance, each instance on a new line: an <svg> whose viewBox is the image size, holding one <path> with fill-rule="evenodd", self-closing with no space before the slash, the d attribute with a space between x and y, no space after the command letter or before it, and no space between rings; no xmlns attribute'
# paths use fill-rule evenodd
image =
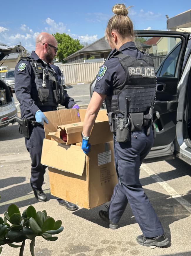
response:
<svg viewBox="0 0 191 256"><path fill-rule="evenodd" d="M129 11L136 30L166 30L166 17L171 18L191 9L190 0L114 1L3 1L0 9L0 42L21 44L29 51L35 47L39 32L67 33L81 43L93 43L104 36L117 3L133 5ZM177 4L176 4L177 3Z"/></svg>

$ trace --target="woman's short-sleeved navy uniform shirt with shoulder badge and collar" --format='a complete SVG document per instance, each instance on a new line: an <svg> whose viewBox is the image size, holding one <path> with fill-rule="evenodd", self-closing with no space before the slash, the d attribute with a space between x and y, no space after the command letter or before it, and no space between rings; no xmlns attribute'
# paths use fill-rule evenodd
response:
<svg viewBox="0 0 191 256"><path fill-rule="evenodd" d="M109 56L111 56L114 51L115 49L111 51ZM144 56L143 53L136 48L134 42L124 43L119 48L119 51L135 58L142 58ZM113 95L113 87L123 84L124 81L125 71L120 64L119 59L111 58L105 61L105 63L100 67L93 91L111 96Z"/></svg>

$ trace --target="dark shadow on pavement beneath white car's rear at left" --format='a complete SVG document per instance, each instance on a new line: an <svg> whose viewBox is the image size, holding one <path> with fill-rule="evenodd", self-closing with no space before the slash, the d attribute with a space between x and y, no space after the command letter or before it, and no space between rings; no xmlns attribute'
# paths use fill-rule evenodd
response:
<svg viewBox="0 0 191 256"><path fill-rule="evenodd" d="M0 141L9 141L19 138L24 137L18 132L18 125L8 125L0 129Z"/></svg>

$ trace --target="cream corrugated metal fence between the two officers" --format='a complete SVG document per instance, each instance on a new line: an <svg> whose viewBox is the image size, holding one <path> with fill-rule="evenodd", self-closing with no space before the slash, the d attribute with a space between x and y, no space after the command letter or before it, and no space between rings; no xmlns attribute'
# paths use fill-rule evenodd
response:
<svg viewBox="0 0 191 256"><path fill-rule="evenodd" d="M66 84L91 83L98 74L104 61L92 63L66 63L59 65L63 69Z"/></svg>

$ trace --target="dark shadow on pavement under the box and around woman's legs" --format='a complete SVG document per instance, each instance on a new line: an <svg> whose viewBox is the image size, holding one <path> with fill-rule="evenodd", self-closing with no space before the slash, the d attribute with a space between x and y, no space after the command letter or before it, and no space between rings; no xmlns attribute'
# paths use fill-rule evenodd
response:
<svg viewBox="0 0 191 256"><path fill-rule="evenodd" d="M169 195L158 193L152 190L144 189L146 195L148 196L151 204L153 205L160 221L162 222L162 226L165 230L165 234L168 239L171 241L171 234L169 225L175 221L180 219L184 219L190 216L190 212L187 211L180 203L177 202L174 198L171 198ZM188 194L190 194L189 191ZM186 198L187 195L182 196L182 198ZM109 205L109 203L107 203ZM99 217L99 210L104 209L104 205L98 206L91 210L87 210L82 208L76 212L73 212L74 215L79 216L83 219L96 223L100 226L108 228L108 224L105 223ZM106 210L106 208L105 208ZM119 226L128 226L130 224L137 223L135 218L133 217L133 213L131 211L130 205L128 204L123 216L120 219Z"/></svg>

